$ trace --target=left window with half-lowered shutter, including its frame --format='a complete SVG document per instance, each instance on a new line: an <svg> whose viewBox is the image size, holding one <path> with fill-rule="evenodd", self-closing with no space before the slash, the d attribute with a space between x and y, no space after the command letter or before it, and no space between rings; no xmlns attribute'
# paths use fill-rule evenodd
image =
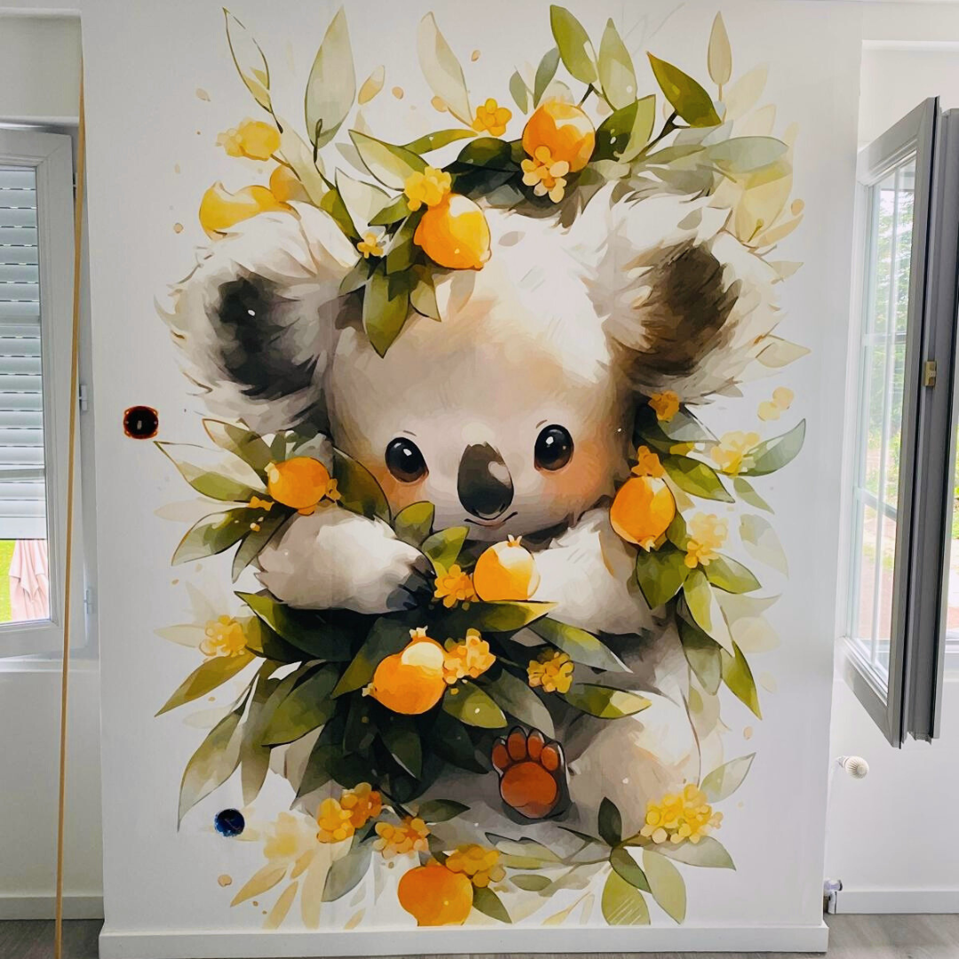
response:
<svg viewBox="0 0 959 959"><path fill-rule="evenodd" d="M69 136L0 129L0 655L61 637L72 177Z"/></svg>

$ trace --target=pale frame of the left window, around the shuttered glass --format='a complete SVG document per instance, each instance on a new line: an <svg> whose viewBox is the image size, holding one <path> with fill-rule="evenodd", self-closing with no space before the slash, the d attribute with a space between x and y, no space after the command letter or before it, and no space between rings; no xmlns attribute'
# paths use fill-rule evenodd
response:
<svg viewBox="0 0 959 959"><path fill-rule="evenodd" d="M8 657L58 652L63 637L67 449L72 399L72 138L63 133L0 129L0 165L33 167L36 176L43 456L50 558L50 619L0 624L0 657Z"/></svg>

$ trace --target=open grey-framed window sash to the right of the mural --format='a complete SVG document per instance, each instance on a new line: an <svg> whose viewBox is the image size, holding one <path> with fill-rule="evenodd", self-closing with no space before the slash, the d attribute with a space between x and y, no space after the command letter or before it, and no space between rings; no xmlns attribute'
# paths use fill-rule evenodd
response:
<svg viewBox="0 0 959 959"><path fill-rule="evenodd" d="M857 169L845 669L897 746L937 734L947 642L957 134L959 111L927 100L860 152Z"/></svg>

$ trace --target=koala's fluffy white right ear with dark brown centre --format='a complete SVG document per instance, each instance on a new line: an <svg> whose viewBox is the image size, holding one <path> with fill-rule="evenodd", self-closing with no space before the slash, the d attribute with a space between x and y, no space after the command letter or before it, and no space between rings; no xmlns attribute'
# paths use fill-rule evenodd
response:
<svg viewBox="0 0 959 959"><path fill-rule="evenodd" d="M780 318L777 273L723 226L728 211L673 196L620 201L594 300L643 395L703 403L730 390Z"/></svg>

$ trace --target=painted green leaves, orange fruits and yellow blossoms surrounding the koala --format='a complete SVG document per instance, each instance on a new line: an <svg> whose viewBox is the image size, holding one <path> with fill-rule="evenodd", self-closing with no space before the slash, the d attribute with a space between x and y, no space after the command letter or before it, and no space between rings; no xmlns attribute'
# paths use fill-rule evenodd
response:
<svg viewBox="0 0 959 959"><path fill-rule="evenodd" d="M471 107L462 66L427 14L417 46L433 106L461 126L397 145L358 129L358 120L349 142L337 146L361 177L341 169L328 174L321 155L354 103L368 103L385 82L380 67L357 94L344 12L330 23L307 83L307 140L277 117L262 50L231 13L225 16L240 77L270 120L246 120L218 143L229 155L271 159L276 166L269 187L247 186L235 194L219 183L211 187L199 221L215 243L260 213L295 214L296 202L328 213L359 254L340 292L362 297L363 328L381 356L411 319L442 318L434 291L440 273L482 269L490 248L488 208L556 216L568 224L610 183L620 196L667 190L709 197L730 211L725 228L763 258L802 220L801 201L789 201L790 137L769 135L763 128L771 128L772 119L758 117L762 109L747 116L760 98L764 70L730 85L732 55L718 14L708 51L715 98L678 67L649 55L666 105L656 131L658 95L639 96L633 60L613 21L596 54L573 14L551 7L554 45L534 72L516 71L508 82L515 105L527 115L522 136L513 140L504 138L512 110L492 98ZM557 78L560 64L569 82ZM571 83L578 86L575 93ZM587 110L591 103L596 121ZM747 131L734 135L738 126ZM460 140L468 142L445 165L425 158ZM766 262L782 279L799 267ZM769 338L758 360L778 369L805 352ZM760 406L760 419L779 419L791 402L791 391L779 387ZM482 549L468 540L465 527L434 528L432 503L392 514L376 479L339 450L331 461L327 442L314 432L261 436L242 423L215 419L204 426L216 451L157 444L196 491L224 504L186 533L174 564L235 548L236 581L297 513L346 509L390 526L422 552L432 571L414 607L400 613L304 611L267 591L239 592L244 613L221 612L165 631L180 642L193 637L203 660L160 713L196 702L257 666L187 763L180 819L238 768L249 807L266 780L271 750L313 734L306 760L299 768L288 762L284 770L297 811L280 813L256 833L264 839L267 864L232 904L286 883L269 911L267 924L275 926L301 885L304 921L316 925L320 903L353 890L376 853L390 863L418 856L397 895L419 924L462 923L473 909L509 923L503 896L546 901L573 886L571 877L599 871L608 923L648 923L647 896L682 922L686 891L675 863L735 868L711 834L722 819L713 807L742 783L752 755L650 802L635 833L624 833L620 810L604 799L596 829L573 832L572 850L493 833L485 843L451 847L443 824L468 807L420 799L445 768L486 773L498 737L514 722L550 735L548 701L610 721L640 713L650 701L603 685L603 673L627 667L600 637L554 618L555 604L529 598L539 577L535 556L519 539ZM802 421L766 440L752 432L716 437L675 393L653 394L638 417L632 474L610 507L614 530L636 550L636 582L648 606L675 613L698 688L715 694L725 686L760 718L737 621L760 620L771 600L748 596L760 589L759 579L720 551L728 520L692 513L692 498L771 511L750 479L786 465L804 435ZM738 534L750 555L785 572L768 521L745 514ZM531 658L515 639L521 630L540 643ZM303 812L303 801L320 790L327 794L316 800L315 813ZM244 813L223 810L216 826L236 835L246 829Z"/></svg>

